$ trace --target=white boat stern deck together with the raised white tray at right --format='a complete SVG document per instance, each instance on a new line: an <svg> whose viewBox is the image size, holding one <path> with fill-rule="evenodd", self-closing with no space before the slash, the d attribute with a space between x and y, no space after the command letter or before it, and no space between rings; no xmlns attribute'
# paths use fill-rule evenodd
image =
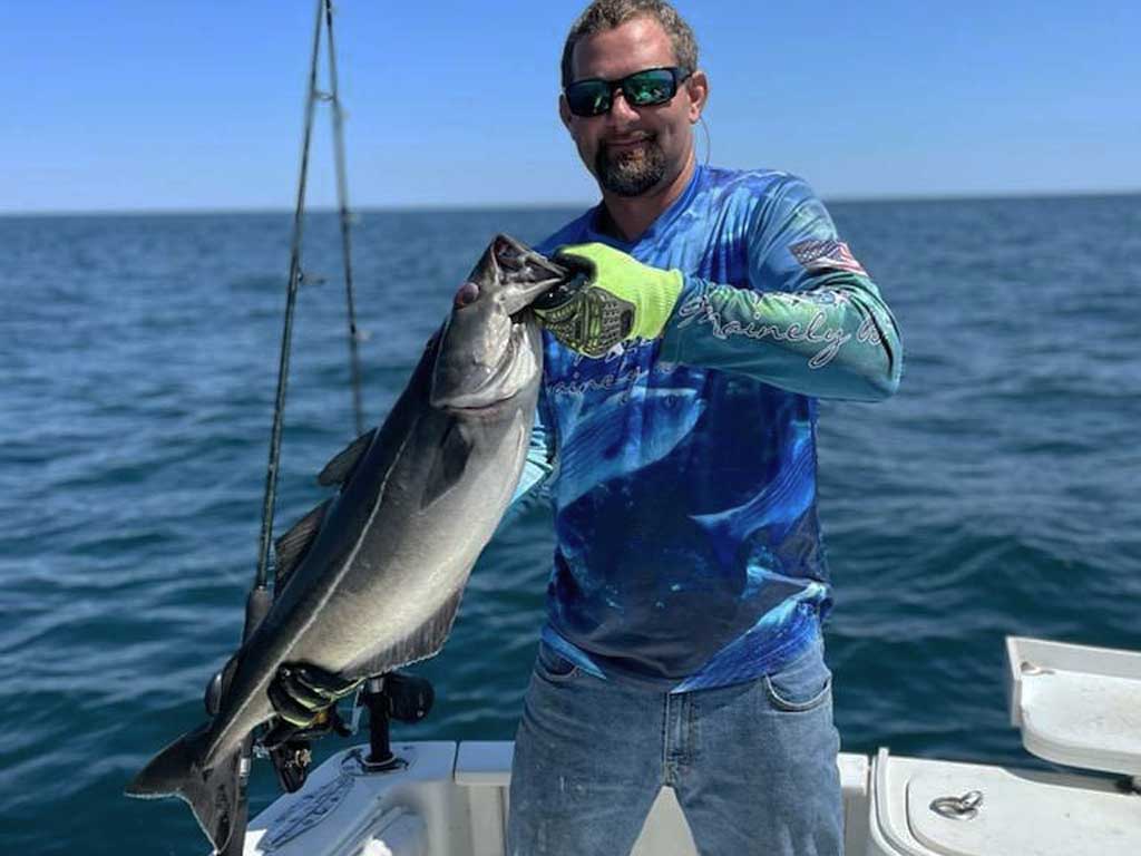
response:
<svg viewBox="0 0 1141 856"><path fill-rule="evenodd" d="M1018 638L1008 649L1027 749L1101 773L844 753L847 856L1141 856L1141 654ZM407 761L394 773L364 772L367 746L325 761L250 822L245 856L504 856L511 743L393 750ZM697 856L670 789L633 856Z"/></svg>

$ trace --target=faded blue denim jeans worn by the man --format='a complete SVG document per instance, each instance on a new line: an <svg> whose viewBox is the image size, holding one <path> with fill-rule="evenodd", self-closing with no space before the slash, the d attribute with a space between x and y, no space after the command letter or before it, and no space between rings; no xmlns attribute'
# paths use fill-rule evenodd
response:
<svg viewBox="0 0 1141 856"><path fill-rule="evenodd" d="M663 785L701 856L841 856L832 675L816 639L759 680L674 695L540 645L516 736L510 856L626 856Z"/></svg>

